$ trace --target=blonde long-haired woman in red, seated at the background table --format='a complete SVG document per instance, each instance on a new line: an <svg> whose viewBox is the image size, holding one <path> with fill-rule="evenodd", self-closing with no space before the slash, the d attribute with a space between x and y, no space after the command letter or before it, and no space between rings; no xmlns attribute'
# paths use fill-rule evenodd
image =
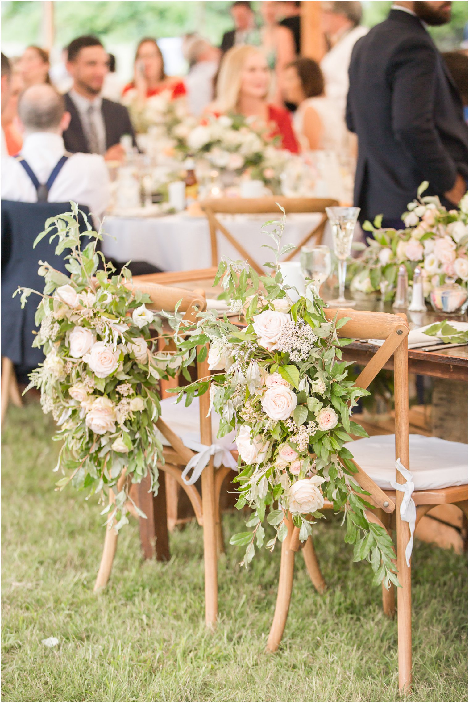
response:
<svg viewBox="0 0 469 703"><path fill-rule="evenodd" d="M216 115L235 113L258 117L271 129L271 136L280 136L282 148L298 153L291 118L284 108L267 101L270 70L262 49L256 46L234 46L227 51L220 65L216 100L209 107Z"/></svg>

